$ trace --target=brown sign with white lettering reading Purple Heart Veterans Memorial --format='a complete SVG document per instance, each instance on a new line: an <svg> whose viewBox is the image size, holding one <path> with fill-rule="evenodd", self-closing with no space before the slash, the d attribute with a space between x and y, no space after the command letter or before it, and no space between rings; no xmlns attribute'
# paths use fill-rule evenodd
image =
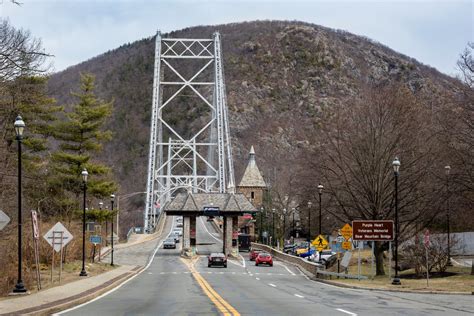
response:
<svg viewBox="0 0 474 316"><path fill-rule="evenodd" d="M393 231L393 221L352 221L352 240L390 241L393 240Z"/></svg>

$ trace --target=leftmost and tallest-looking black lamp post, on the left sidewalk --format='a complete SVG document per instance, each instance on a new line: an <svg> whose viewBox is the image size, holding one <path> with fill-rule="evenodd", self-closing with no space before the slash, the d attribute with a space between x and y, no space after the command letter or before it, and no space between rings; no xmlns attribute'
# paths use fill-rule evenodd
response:
<svg viewBox="0 0 474 316"><path fill-rule="evenodd" d="M23 130L25 129L25 122L20 115L17 116L15 120L15 134L16 140L18 142L18 280L16 282L13 293L26 293L27 289L23 284L23 279L21 277L21 263L22 263L22 252L21 252L21 229L23 220L21 218L21 140L23 139Z"/></svg>

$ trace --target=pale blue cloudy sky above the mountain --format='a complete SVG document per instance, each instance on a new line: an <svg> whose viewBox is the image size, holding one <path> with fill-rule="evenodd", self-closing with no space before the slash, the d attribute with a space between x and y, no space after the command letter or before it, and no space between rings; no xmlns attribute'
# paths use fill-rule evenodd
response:
<svg viewBox="0 0 474 316"><path fill-rule="evenodd" d="M299 20L364 35L454 75L474 41L472 0L0 0L0 13L31 31L56 71L124 43L195 25Z"/></svg>

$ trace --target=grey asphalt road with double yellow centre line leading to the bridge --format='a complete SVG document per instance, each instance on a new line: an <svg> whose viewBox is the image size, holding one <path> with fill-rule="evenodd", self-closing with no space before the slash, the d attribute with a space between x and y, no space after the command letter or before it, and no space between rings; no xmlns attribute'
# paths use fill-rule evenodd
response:
<svg viewBox="0 0 474 316"><path fill-rule="evenodd" d="M282 262L256 267L247 253L229 261L227 268L208 268L205 255L214 251L222 251L219 233L198 218L197 260L181 259L179 249L159 249L150 266L133 280L65 314L445 316L474 311L472 296L343 289L311 281Z"/></svg>

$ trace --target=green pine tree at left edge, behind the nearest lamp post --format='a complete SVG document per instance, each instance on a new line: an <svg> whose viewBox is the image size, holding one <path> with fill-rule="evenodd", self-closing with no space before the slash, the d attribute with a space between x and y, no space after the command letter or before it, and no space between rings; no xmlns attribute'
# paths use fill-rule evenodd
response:
<svg viewBox="0 0 474 316"><path fill-rule="evenodd" d="M0 126L4 140L0 146L3 153L0 163L6 175L15 174L17 157L13 122L20 114L26 123L22 155L24 197L25 202L32 207L45 198L43 184L48 170L51 127L56 121L57 113L62 109L47 95L46 84L46 77L21 76L3 82L0 90ZM12 179L14 177L0 178L2 192L7 193L10 190ZM7 194L11 195L14 196Z"/></svg>

